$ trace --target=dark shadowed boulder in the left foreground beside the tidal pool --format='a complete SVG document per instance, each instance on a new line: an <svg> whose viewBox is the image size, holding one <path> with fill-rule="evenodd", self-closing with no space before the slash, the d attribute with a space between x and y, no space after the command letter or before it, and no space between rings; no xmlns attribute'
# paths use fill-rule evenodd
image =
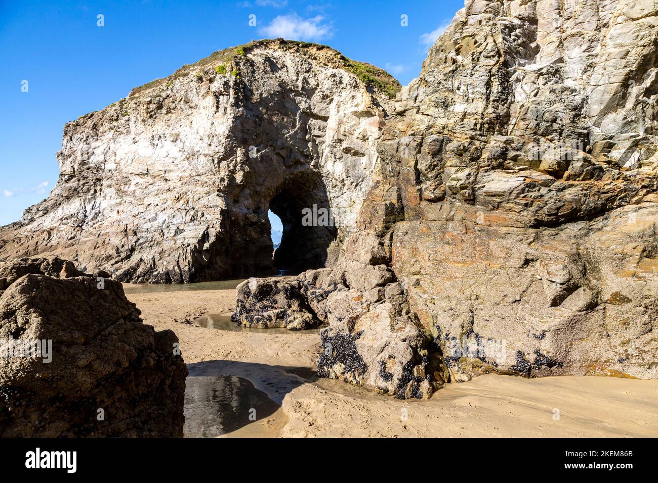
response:
<svg viewBox="0 0 658 483"><path fill-rule="evenodd" d="M0 437L182 436L178 338L96 275L59 258L0 264Z"/></svg>

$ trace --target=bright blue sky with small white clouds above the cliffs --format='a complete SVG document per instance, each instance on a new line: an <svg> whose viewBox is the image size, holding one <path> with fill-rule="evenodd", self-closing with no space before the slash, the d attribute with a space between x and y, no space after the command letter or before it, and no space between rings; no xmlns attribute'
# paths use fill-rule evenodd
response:
<svg viewBox="0 0 658 483"><path fill-rule="evenodd" d="M218 49L266 37L331 45L407 84L463 5L0 0L0 225L20 219L57 182L55 152L64 123L126 97L132 87ZM104 26L97 25L99 14Z"/></svg>

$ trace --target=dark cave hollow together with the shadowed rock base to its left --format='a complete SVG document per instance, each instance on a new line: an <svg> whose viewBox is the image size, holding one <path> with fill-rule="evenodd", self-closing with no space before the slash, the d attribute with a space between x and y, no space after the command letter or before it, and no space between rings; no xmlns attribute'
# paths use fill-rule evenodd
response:
<svg viewBox="0 0 658 483"><path fill-rule="evenodd" d="M207 229L197 242L191 282L297 275L338 258L334 243L338 229L320 173L309 169L290 173L276 187L254 193L245 204L251 205L248 210L226 210L221 230ZM281 220L276 250L268 210Z"/></svg>

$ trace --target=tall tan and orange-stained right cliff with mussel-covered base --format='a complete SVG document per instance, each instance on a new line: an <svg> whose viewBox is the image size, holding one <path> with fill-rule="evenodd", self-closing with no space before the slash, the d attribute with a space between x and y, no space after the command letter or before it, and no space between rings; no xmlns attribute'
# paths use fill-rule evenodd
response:
<svg viewBox="0 0 658 483"><path fill-rule="evenodd" d="M467 1L387 119L320 375L405 398L490 371L658 377L657 14Z"/></svg>

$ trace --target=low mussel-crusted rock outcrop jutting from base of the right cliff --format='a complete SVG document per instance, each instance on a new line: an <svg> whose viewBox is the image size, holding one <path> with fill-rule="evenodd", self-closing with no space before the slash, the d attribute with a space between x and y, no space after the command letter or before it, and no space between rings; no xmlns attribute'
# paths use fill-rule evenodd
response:
<svg viewBox="0 0 658 483"><path fill-rule="evenodd" d="M351 274L365 284L369 265ZM378 271L378 269L375 269ZM449 379L440 354L409 310L403 288L387 283L361 291L344 269L309 270L296 279L250 279L238 286L233 319L247 327L309 329L322 323L318 375L374 388L401 399L427 397ZM289 317L286 319L286 317ZM302 325L305 318L312 324Z"/></svg>

